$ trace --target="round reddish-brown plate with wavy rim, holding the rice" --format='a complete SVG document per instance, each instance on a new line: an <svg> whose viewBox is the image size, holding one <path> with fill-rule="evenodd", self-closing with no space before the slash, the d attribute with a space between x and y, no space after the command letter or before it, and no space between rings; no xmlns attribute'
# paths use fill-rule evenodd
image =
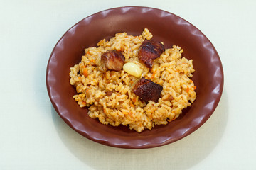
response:
<svg viewBox="0 0 256 170"><path fill-rule="evenodd" d="M168 125L157 125L141 133L126 126L102 125L89 118L87 108L80 108L73 100L76 92L69 82L70 67L80 62L86 47L96 46L99 40L124 31L140 35L144 28L149 28L153 39L164 42L166 48L179 45L183 56L193 59L196 101ZM208 38L183 18L156 8L122 7L88 16L60 38L48 61L46 84L53 107L80 135L112 147L150 148L180 140L208 120L223 91L223 67Z"/></svg>

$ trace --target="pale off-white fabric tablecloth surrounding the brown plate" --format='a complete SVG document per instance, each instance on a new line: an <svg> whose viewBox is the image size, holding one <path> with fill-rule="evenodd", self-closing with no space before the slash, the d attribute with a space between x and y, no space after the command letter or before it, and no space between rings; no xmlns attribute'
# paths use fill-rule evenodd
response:
<svg viewBox="0 0 256 170"><path fill-rule="evenodd" d="M153 149L107 147L78 135L50 103L46 65L56 42L82 18L119 6L175 13L220 55L218 108L183 140ZM255 8L256 1L1 1L0 169L255 169Z"/></svg>

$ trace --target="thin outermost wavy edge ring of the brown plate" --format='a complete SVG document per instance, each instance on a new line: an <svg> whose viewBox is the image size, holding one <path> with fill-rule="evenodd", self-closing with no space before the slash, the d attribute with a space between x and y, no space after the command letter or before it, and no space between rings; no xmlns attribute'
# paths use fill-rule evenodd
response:
<svg viewBox="0 0 256 170"><path fill-rule="evenodd" d="M183 135L181 135L180 137L176 137L176 138L172 138L171 140L167 140L165 142L161 142L161 144L146 144L144 143L144 145L137 145L137 146L130 146L129 144L120 144L118 145L117 143L109 143L109 142L106 142L105 140L100 140L100 139L95 139L93 137L91 137L90 135L86 135L85 132L81 132L80 130L78 130L77 128L75 128L73 126L73 124L70 122L70 120L67 120L65 117L63 117L63 115L60 113L60 110L58 108L58 104L55 103L55 100L52 98L52 95L51 95L51 89L50 89L50 84L49 84L49 81L48 81L48 77L49 77L49 65L50 65L50 60L52 60L52 57L53 57L53 54L54 54L54 51L55 51L55 48L57 47L57 45L60 43L61 40L63 40L63 38L65 37L65 35L67 33L69 33L70 30L72 30L73 28L75 28L75 26L78 26L79 23L81 23L82 21L85 21L85 19L87 18L90 18L92 16L95 16L95 15L99 15L100 13L104 13L106 11L113 11L113 10L119 10L119 9L123 9L123 8L146 8L146 9L150 9L150 10L156 10L156 11L161 11L161 12L164 12L164 13L169 13L175 17L178 17L178 18L181 18L180 16L177 16L176 14L174 13L171 13L169 11L164 11L164 10L161 10L159 8L151 8L151 7L145 7L145 6L122 6L122 7L116 7L116 8L109 8L109 9L105 9L103 11L99 11L97 13L93 13L91 14L90 16L87 16L85 18L82 18L82 20L78 21L77 23L75 23L72 27L70 27L67 31L65 31L65 33L61 36L61 38L58 40L58 42L55 44L54 48L53 48L53 51L50 53L50 58L48 60L48 64L47 64L47 68L46 68L46 86L47 86L47 91L48 91L48 96L50 98L50 101L53 105L53 108L55 108L55 111L58 113L58 115L60 115L60 118L62 118L65 123L67 123L70 128L73 128L73 130L75 130L76 132L78 132L80 135L84 136L84 137L87 137L88 139L90 140L93 140L95 142L98 142L100 144L103 144L103 145L108 145L108 146L111 146L111 147L121 147L121 148L127 148L127 149L144 149L144 148L151 148L151 147L159 147L159 146L162 146L162 145L167 145L167 144L170 144L172 142L176 142L177 140L181 140L183 137L186 137L188 135L190 135L192 132L195 132L198 128L201 127L201 125L203 125L204 123L206 123L206 121L208 120L208 118L210 118L210 116L213 114L213 112L215 111L215 108L218 106L218 103L220 101L220 98L223 94L223 86L224 86L224 73L223 73L223 65L222 65L222 62L220 60L220 56L218 55L218 52L217 50L215 49L215 47L213 46L212 42L210 42L210 40L208 40L208 38L206 37L206 35L204 35L201 30L199 30L198 28L196 28L196 26L193 26L193 24L191 24L190 22L186 21L185 19L181 18L183 21L186 21L186 23L189 23L190 26L192 26L193 28L196 28L196 30L198 30L203 36L204 38L206 38L208 40L208 42L210 42L210 45L213 47L213 50L215 51L215 54L217 55L218 57L218 60L220 61L220 72L222 74L222 81L220 82L220 93L218 95L218 97L215 99L215 106L213 106L212 110L210 111L210 113L208 113L208 116L204 117L204 119L201 121L201 123L198 123L198 125L194 126L193 128L190 128L190 130L188 130L186 133L184 133ZM129 10L127 10L129 11Z"/></svg>

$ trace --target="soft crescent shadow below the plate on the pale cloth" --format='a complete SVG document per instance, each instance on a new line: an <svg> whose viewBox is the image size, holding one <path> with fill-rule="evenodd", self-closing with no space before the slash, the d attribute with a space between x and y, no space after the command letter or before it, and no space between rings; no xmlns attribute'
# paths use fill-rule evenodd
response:
<svg viewBox="0 0 256 170"><path fill-rule="evenodd" d="M191 135L151 149L120 149L88 140L71 129L52 106L55 129L63 144L92 169L189 169L208 157L220 142L228 121L225 88L213 115Z"/></svg>

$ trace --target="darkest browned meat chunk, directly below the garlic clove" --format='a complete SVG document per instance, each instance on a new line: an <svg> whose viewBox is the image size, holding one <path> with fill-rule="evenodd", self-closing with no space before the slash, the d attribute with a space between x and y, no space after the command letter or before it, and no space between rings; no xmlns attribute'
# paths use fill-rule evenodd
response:
<svg viewBox="0 0 256 170"><path fill-rule="evenodd" d="M139 96L139 98L146 102L157 102L160 98L162 90L162 86L154 83L149 79L145 79L144 77L142 77L142 79L139 79L139 81L137 82L137 84L134 85L133 88L134 94L136 94L137 96Z"/></svg>

